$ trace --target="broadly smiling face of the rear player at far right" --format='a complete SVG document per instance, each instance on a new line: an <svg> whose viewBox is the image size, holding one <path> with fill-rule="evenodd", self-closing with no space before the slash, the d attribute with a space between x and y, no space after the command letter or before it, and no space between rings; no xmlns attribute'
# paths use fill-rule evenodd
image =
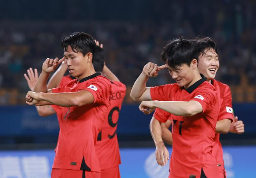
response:
<svg viewBox="0 0 256 178"><path fill-rule="evenodd" d="M220 66L218 54L212 48L206 49L204 54L198 57L198 70L209 81L214 79Z"/></svg>

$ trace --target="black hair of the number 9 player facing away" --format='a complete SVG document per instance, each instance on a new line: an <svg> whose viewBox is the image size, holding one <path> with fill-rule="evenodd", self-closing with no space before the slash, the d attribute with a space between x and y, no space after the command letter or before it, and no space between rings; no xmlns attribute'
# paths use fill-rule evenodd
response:
<svg viewBox="0 0 256 178"><path fill-rule="evenodd" d="M102 72L104 67L104 51L101 47L96 46L95 53L93 57L93 67L96 72Z"/></svg>

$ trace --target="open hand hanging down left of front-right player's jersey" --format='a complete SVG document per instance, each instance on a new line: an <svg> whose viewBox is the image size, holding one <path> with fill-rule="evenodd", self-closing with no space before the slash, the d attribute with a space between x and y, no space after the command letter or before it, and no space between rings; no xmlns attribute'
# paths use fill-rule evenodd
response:
<svg viewBox="0 0 256 178"><path fill-rule="evenodd" d="M169 152L164 145L164 142L160 142L156 144L156 162L160 166L164 166L167 164L167 161L169 159Z"/></svg>

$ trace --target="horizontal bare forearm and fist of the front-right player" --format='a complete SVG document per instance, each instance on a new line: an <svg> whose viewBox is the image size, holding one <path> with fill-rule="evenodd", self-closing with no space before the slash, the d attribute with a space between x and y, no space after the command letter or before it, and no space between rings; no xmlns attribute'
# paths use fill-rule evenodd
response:
<svg viewBox="0 0 256 178"><path fill-rule="evenodd" d="M143 113L155 108L177 116L193 116L203 111L203 107L198 101L142 101L139 106Z"/></svg>

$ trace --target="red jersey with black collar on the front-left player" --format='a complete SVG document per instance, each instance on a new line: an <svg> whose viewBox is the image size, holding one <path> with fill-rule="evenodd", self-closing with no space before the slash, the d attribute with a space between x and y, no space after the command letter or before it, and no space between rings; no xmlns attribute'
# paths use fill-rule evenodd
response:
<svg viewBox="0 0 256 178"><path fill-rule="evenodd" d="M52 168L100 172L95 144L110 106L111 83L95 73L80 81L72 80L53 93L86 90L92 93L94 103L80 107L53 105L58 115L60 133Z"/></svg>

